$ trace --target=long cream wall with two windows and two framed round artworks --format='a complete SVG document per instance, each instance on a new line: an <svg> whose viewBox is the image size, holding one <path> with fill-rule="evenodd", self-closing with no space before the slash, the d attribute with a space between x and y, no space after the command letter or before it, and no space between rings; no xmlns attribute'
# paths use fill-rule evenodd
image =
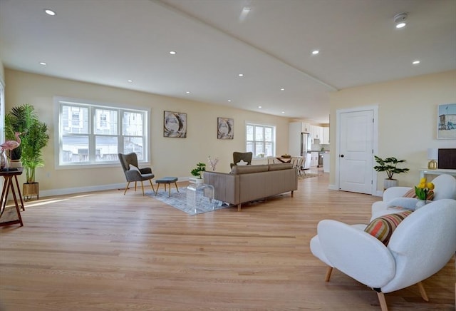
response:
<svg viewBox="0 0 456 311"><path fill-rule="evenodd" d="M228 172L233 151L245 151L245 123L269 123L277 129L276 153L288 151L288 118L263 113L242 111L224 106L186 101L138 91L128 91L92 83L83 83L6 68L6 111L29 103L48 125L50 140L43 150L44 168L36 170L40 195L71 193L84 190L102 190L125 186L120 164L113 168L56 170L54 163L53 97L88 99L104 103L130 104L151 108L152 168L157 177L187 178L197 162L207 163L207 156L219 158L218 171ZM163 137L163 111L187 113L187 138ZM234 139L217 139L217 117L234 118ZM24 181L24 176L21 176Z"/></svg>

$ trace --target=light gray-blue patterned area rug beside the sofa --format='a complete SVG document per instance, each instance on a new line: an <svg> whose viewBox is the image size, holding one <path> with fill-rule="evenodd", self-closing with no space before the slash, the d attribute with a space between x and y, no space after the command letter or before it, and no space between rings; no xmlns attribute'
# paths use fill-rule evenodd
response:
<svg viewBox="0 0 456 311"><path fill-rule="evenodd" d="M146 195L151 198L162 201L167 205L171 205L173 208L182 210L182 212L188 215L197 215L207 212L213 212L214 210L221 210L222 208L229 208L227 203L223 203L219 200L212 200L209 202L209 198L198 197L196 206L187 204L187 188L179 188L177 192L176 188L171 188L171 197L168 198L168 190L158 190L157 196L153 192L146 192Z"/></svg>

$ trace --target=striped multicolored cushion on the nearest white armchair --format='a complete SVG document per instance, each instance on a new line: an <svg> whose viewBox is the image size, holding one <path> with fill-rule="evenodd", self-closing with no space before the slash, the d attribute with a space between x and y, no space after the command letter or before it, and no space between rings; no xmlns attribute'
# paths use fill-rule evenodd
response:
<svg viewBox="0 0 456 311"><path fill-rule="evenodd" d="M388 245L388 242L390 242L391 235L393 235L395 228L397 228L400 222L403 221L411 213L411 210L407 210L402 213L380 216L372 220L366 229L364 229L364 231L373 237L378 238L381 243Z"/></svg>

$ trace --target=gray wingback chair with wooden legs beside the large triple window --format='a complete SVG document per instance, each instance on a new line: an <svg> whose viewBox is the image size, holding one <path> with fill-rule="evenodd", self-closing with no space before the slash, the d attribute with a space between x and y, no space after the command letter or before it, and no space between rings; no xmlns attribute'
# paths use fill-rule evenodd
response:
<svg viewBox="0 0 456 311"><path fill-rule="evenodd" d="M123 192L124 195L127 193L128 186L132 181L135 182L135 191L136 183L138 181L141 182L142 195L145 195L144 184L142 183L143 180L149 180L152 190L155 191L154 185L152 185L152 178L155 177L155 175L152 173L152 168L138 168L138 155L136 155L136 153L118 153L118 156L120 165L122 165L123 173L125 173L125 178L127 179L127 186ZM130 167L130 164L133 166Z"/></svg>

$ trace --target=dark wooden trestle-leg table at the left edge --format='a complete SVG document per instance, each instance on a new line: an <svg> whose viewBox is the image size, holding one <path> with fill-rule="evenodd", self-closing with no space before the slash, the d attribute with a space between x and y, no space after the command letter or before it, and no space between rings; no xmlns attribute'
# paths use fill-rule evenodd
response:
<svg viewBox="0 0 456 311"><path fill-rule="evenodd" d="M1 190L1 206L0 206L0 226L4 225L14 225L19 223L21 227L24 225L22 223L21 210L19 209L19 203L17 200L17 195L19 195L19 200L21 200L20 208L25 210L24 201L22 200L21 188L19 188L19 182L17 181L17 176L22 174L22 168L17 170L0 170L0 176L4 177L3 190ZM16 189L14 189L14 181L16 183ZM17 219L15 219L14 210L7 210L6 203L8 202L9 190L11 189L11 194L14 198L14 205L16 208ZM17 192L16 192L17 191Z"/></svg>

